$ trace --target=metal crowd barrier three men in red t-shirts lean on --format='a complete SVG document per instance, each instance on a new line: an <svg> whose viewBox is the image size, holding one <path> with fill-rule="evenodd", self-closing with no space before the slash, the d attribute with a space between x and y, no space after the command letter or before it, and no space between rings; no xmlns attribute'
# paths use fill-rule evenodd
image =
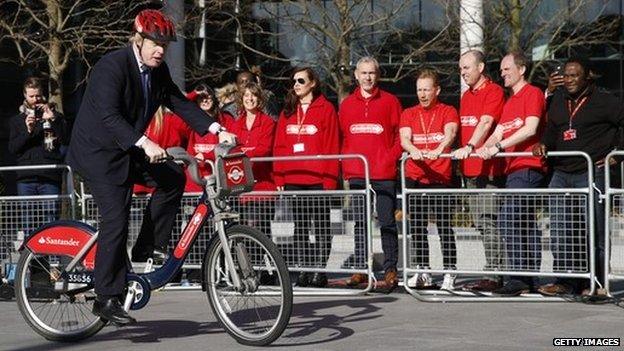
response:
<svg viewBox="0 0 624 351"><path fill-rule="evenodd" d="M531 153L496 155L517 156L531 156ZM548 157L579 156L587 162L588 184L592 185L593 164L589 155L582 152L548 152ZM451 155L441 157L450 158ZM420 273L455 274L460 278L585 278L591 280L591 289L594 290L592 186L565 189L413 189L406 187L405 164L408 159L403 157L400 166L404 212L403 281L405 289L414 297L428 302L561 301L560 298L539 294L498 297L485 292L418 290L410 287L408 280ZM475 216L477 213L486 215ZM494 216L488 216L488 213ZM435 226L432 225L434 221L438 222ZM553 232L554 225L565 236ZM416 228L422 231L416 231ZM427 228L426 233L424 228ZM493 235L484 236L484 232L489 230ZM524 235L519 231L523 231ZM534 234L526 234L530 232ZM513 240L517 246L509 250L511 243L503 238Z"/></svg>

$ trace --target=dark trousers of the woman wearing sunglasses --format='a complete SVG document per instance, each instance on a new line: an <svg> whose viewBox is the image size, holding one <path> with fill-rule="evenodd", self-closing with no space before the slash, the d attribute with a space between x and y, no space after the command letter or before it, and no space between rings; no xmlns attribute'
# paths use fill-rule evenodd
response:
<svg viewBox="0 0 624 351"><path fill-rule="evenodd" d="M322 184L286 184L288 191L321 191ZM331 252L330 201L319 195L297 195L292 198L295 219L295 264L302 267L324 267ZM310 230L314 221L315 243L310 242Z"/></svg>

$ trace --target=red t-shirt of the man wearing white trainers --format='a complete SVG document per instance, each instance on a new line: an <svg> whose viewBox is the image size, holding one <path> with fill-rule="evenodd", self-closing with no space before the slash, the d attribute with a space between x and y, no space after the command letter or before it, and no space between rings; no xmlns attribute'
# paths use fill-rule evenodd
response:
<svg viewBox="0 0 624 351"><path fill-rule="evenodd" d="M448 123L459 124L459 117L454 107L436 103L429 109L421 105L410 107L401 114L401 128L412 130L412 144L419 150L433 150L444 140L444 127ZM450 152L450 147L444 149ZM451 159L408 160L405 175L424 184L450 184Z"/></svg>

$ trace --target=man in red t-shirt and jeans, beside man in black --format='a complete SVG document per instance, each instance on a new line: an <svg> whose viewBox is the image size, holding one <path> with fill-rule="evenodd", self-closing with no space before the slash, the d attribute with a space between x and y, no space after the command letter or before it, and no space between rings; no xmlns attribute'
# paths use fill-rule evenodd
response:
<svg viewBox="0 0 624 351"><path fill-rule="evenodd" d="M531 152L539 144L544 124L544 93L529 84L524 73L527 59L513 52L503 57L501 76L509 97L494 133L477 149L484 160L498 152ZM507 188L539 188L546 173L544 159L534 156L511 157L506 160ZM535 225L535 204L531 199L508 198L499 217L499 228L507 246L507 269L513 271L539 271L541 264L541 232ZM510 278L505 286L494 293L517 296L534 289L532 277Z"/></svg>

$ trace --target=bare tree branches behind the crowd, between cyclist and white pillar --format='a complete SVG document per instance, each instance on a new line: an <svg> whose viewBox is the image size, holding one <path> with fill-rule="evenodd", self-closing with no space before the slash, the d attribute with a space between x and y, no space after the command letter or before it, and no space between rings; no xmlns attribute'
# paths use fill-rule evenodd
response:
<svg viewBox="0 0 624 351"><path fill-rule="evenodd" d="M410 4L398 0L239 1L234 11L233 2L207 0L203 13L209 15L203 19L211 29L207 40L217 48L212 55L218 60L204 66L187 65L188 76L218 79L241 57L243 68L259 62L284 70L309 65L342 100L350 92L354 61L361 56L391 63L386 79L398 81L423 62L427 53L442 55L451 47L451 18L443 17L440 29L427 32L414 25ZM200 18L198 11L192 21L201 23ZM234 45L227 45L227 40Z"/></svg>

